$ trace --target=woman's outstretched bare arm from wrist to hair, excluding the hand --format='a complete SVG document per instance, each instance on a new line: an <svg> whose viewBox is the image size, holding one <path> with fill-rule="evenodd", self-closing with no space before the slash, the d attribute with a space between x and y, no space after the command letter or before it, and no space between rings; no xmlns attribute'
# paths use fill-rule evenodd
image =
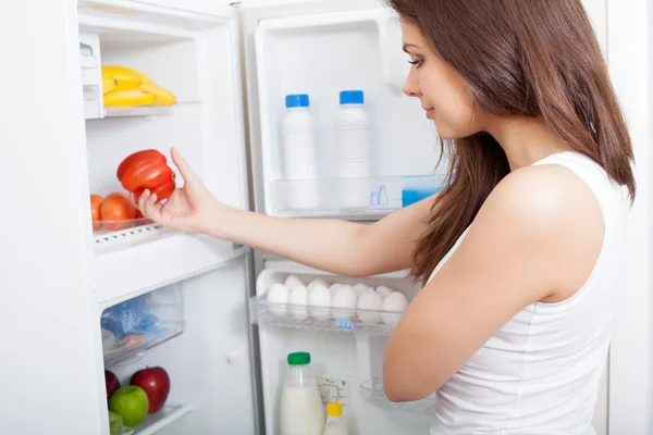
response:
<svg viewBox="0 0 653 435"><path fill-rule="evenodd" d="M373 224L340 220L271 217L230 209L210 231L222 237L343 276L409 269L435 197Z"/></svg>

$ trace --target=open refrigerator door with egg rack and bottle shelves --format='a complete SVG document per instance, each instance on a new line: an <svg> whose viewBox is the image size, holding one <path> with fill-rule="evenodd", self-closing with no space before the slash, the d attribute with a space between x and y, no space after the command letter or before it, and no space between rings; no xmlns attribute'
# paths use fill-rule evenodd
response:
<svg viewBox="0 0 653 435"><path fill-rule="evenodd" d="M402 92L409 65L390 10L373 0L242 8L256 211L369 223L443 187L446 161L436 170L434 126ZM367 165L358 176L342 170L343 91L364 96L358 109L369 148L356 156ZM304 177L294 176L296 156L285 135L293 96L306 96L316 138L317 164ZM349 434L428 433L434 398L394 403L381 376L387 337L419 289L405 271L354 279L266 252L255 257L249 310L260 343L266 433L280 433L286 358L303 351L311 356L322 406L343 405Z"/></svg>

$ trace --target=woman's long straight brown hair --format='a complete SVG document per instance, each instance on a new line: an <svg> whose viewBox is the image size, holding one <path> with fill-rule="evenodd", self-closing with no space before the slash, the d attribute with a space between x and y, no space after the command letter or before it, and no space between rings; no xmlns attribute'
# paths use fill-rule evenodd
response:
<svg viewBox="0 0 653 435"><path fill-rule="evenodd" d="M581 0L386 1L463 75L480 110L542 120L634 200L630 137ZM449 157L448 178L410 271L424 284L510 171L486 133L441 145Z"/></svg>

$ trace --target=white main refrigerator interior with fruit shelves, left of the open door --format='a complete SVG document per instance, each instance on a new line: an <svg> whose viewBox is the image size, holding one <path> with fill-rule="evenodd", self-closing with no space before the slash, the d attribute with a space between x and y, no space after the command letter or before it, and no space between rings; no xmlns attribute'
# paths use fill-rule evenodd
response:
<svg viewBox="0 0 653 435"><path fill-rule="evenodd" d="M167 156L181 187L175 146L218 199L249 208L235 10L106 3L78 9L90 194L126 194L118 166L145 149ZM176 103L106 107L101 65L138 71ZM147 220L102 222L93 238L98 362L123 386L146 366L171 380L165 408L122 433L255 433L247 249Z"/></svg>

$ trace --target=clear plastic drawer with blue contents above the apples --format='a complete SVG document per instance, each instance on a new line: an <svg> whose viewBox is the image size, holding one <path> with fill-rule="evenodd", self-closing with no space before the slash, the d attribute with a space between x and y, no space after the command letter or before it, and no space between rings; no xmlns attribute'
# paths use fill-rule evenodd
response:
<svg viewBox="0 0 653 435"><path fill-rule="evenodd" d="M181 288L163 287L109 307L100 325L104 368L132 362L184 332Z"/></svg>

